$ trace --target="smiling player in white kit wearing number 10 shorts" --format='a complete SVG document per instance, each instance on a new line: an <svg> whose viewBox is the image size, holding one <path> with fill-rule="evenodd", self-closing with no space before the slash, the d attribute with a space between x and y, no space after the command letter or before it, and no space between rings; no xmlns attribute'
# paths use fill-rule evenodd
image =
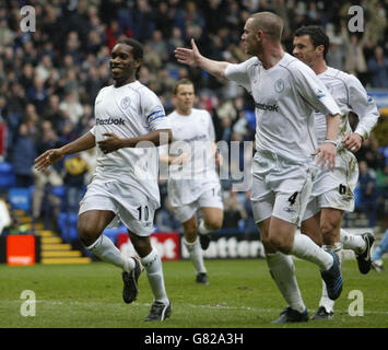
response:
<svg viewBox="0 0 388 350"><path fill-rule="evenodd" d="M97 147L97 166L80 202L78 234L87 250L122 269L126 303L138 295L141 265L126 258L103 231L121 221L144 267L154 296L144 320L163 320L172 312L162 260L151 246L153 218L160 206L157 148L172 139L171 124L160 98L137 80L143 48L131 38L120 38L110 54L114 84L103 88L95 101L95 126L60 149L35 160L45 170L63 156Z"/></svg>

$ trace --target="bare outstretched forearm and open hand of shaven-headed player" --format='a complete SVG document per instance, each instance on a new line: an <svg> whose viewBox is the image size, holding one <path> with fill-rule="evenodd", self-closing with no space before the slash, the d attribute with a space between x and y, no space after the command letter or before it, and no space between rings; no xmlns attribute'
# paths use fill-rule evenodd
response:
<svg viewBox="0 0 388 350"><path fill-rule="evenodd" d="M199 67L216 78L225 77L225 69L228 65L228 62L214 61L202 56L198 50L195 39L191 39L191 49L177 47L175 49L175 57L179 63Z"/></svg>

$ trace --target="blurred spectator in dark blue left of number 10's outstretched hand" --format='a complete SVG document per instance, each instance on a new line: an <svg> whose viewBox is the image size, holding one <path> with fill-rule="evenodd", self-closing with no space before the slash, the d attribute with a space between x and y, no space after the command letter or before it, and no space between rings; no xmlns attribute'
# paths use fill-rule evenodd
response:
<svg viewBox="0 0 388 350"><path fill-rule="evenodd" d="M27 125L22 122L13 145L12 156L16 187L30 187L33 185L32 166L36 155L35 140L31 137Z"/></svg>

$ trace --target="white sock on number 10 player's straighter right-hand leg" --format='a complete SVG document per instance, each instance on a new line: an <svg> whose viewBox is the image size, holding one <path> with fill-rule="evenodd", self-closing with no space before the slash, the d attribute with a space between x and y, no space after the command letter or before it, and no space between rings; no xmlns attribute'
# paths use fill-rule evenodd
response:
<svg viewBox="0 0 388 350"><path fill-rule="evenodd" d="M141 258L140 261L146 271L154 301L167 304L168 298L164 285L162 259L157 250L153 247L152 252L148 256Z"/></svg>

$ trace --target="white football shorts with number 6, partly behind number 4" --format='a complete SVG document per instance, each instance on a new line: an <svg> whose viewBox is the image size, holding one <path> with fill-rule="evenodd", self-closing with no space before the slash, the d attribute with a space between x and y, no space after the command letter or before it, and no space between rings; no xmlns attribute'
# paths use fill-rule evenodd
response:
<svg viewBox="0 0 388 350"><path fill-rule="evenodd" d="M336 168L319 171L313 182L311 195L303 220L314 217L321 208L354 210L354 189L358 180L357 160L353 153L339 149Z"/></svg>

